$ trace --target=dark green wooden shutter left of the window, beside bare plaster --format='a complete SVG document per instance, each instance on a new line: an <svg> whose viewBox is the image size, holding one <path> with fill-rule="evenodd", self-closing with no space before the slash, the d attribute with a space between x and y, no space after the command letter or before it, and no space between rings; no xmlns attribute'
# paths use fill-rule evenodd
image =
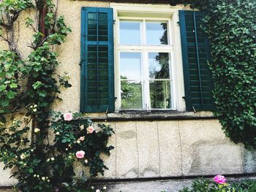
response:
<svg viewBox="0 0 256 192"><path fill-rule="evenodd" d="M83 7L81 112L113 112L113 9Z"/></svg>

